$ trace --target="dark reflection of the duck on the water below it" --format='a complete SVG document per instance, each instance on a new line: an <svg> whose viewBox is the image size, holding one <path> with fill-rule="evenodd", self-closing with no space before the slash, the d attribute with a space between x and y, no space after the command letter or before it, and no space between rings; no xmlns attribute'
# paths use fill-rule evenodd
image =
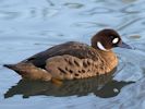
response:
<svg viewBox="0 0 145 109"><path fill-rule="evenodd" d="M85 96L94 93L99 97L117 96L120 89L132 82L117 82L112 80L112 74L106 74L85 80L65 81L61 85L56 85L51 82L34 82L21 80L17 85L12 86L5 94L4 98L14 95L23 95L24 98L29 96L46 95L46 96Z"/></svg>

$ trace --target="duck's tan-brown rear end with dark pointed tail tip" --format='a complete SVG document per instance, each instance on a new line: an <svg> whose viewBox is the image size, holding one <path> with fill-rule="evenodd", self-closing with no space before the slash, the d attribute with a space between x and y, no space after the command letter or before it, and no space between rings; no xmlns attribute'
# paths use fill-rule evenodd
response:
<svg viewBox="0 0 145 109"><path fill-rule="evenodd" d="M50 81L51 74L32 63L3 64L20 74L23 78Z"/></svg>

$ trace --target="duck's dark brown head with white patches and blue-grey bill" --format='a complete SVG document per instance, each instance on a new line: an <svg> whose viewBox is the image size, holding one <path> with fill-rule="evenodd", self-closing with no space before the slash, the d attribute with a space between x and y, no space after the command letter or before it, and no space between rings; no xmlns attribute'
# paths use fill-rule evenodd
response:
<svg viewBox="0 0 145 109"><path fill-rule="evenodd" d="M114 29L102 29L92 38L92 47L95 49L109 51L114 47L131 49L122 41L120 35Z"/></svg>

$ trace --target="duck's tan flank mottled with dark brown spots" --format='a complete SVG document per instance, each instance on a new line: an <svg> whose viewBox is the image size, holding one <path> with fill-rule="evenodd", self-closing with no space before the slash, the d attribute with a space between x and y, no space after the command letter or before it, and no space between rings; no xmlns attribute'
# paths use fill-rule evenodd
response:
<svg viewBox="0 0 145 109"><path fill-rule="evenodd" d="M101 57L93 60L63 55L49 58L46 70L51 73L52 77L59 80L86 78L109 73L116 68L114 64L109 64L110 61L106 61Z"/></svg>

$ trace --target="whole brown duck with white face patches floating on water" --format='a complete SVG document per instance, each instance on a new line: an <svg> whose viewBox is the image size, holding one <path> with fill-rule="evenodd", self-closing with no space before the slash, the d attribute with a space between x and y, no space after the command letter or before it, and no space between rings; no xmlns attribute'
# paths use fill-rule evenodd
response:
<svg viewBox="0 0 145 109"><path fill-rule="evenodd" d="M16 64L4 64L23 78L74 80L92 77L112 71L118 58L113 47L126 47L113 29L102 29L92 38L92 46L69 41L51 47Z"/></svg>

